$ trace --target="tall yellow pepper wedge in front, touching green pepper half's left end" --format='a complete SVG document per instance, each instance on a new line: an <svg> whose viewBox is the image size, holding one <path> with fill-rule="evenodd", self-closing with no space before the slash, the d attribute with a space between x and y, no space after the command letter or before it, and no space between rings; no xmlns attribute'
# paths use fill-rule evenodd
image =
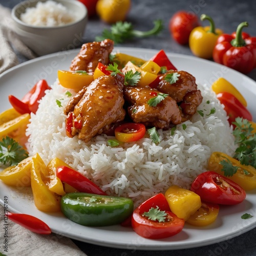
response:
<svg viewBox="0 0 256 256"><path fill-rule="evenodd" d="M38 210L47 212L56 212L60 210L59 196L49 190L46 185L49 173L46 165L39 154L32 157L31 166L31 188L34 197L34 203Z"/></svg>

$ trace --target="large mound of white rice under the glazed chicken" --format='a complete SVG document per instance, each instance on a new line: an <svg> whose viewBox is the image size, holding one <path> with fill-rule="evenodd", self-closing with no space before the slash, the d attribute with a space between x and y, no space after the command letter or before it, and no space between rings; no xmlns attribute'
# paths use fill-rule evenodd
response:
<svg viewBox="0 0 256 256"><path fill-rule="evenodd" d="M108 146L105 135L84 143L77 136L66 136L63 108L70 100L66 89L56 82L32 114L27 135L29 153L39 153L47 164L58 157L94 181L109 195L130 197L135 205L156 193L164 193L170 185L189 188L196 176L206 170L212 152L232 154L234 139L226 112L205 86L199 86L203 102L191 121L177 125L176 130L159 130L161 142L150 138L122 146ZM58 106L56 100L61 101ZM215 114L209 114L212 108ZM184 125L185 124L185 125Z"/></svg>

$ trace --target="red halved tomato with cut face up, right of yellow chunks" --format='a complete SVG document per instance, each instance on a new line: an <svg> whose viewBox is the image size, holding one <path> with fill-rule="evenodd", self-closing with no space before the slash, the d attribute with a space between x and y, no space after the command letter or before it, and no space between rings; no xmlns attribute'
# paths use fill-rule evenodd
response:
<svg viewBox="0 0 256 256"><path fill-rule="evenodd" d="M200 174L191 184L190 190L198 194L202 201L214 204L239 204L246 197L241 186L212 171Z"/></svg>

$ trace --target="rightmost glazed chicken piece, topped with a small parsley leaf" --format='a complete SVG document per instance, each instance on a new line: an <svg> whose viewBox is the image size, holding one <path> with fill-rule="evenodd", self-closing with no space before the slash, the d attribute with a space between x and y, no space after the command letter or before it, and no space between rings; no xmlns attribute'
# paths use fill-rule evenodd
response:
<svg viewBox="0 0 256 256"><path fill-rule="evenodd" d="M175 83L171 84L165 80L165 77L172 73L178 73L180 76ZM169 70L160 77L157 90L169 94L177 103L180 103L185 116L194 115L197 111L197 106L203 99L201 91L197 89L196 78L186 71Z"/></svg>

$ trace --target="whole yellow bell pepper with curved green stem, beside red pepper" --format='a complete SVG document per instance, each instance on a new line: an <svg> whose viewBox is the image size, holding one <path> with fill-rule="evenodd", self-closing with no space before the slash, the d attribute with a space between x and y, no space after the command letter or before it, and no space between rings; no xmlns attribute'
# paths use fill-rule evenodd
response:
<svg viewBox="0 0 256 256"><path fill-rule="evenodd" d="M212 58L212 52L220 34L220 29L215 29L214 20L208 15L202 14L201 20L209 20L209 27L196 27L189 34L189 48L191 52L200 58Z"/></svg>

